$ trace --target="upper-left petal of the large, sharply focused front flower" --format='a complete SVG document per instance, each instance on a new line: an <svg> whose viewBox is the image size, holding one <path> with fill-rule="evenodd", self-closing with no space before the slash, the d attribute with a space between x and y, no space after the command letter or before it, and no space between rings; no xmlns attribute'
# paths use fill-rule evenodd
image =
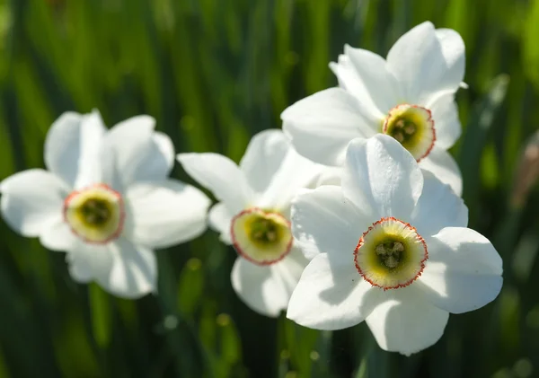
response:
<svg viewBox="0 0 539 378"><path fill-rule="evenodd" d="M361 234L375 221L336 186L305 191L292 204L292 233L307 259L325 252L353 263Z"/></svg>

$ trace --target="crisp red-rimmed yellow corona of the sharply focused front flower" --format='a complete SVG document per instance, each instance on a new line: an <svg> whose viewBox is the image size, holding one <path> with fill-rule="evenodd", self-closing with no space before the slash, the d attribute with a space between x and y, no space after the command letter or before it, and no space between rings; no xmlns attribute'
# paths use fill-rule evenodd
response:
<svg viewBox="0 0 539 378"><path fill-rule="evenodd" d="M354 251L359 274L384 290L409 286L429 259L427 243L411 224L384 217L361 236Z"/></svg>

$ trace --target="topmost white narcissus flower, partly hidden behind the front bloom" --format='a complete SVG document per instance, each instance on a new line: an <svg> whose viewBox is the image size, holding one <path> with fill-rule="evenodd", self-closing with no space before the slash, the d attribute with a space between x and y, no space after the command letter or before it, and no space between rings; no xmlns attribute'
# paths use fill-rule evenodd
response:
<svg viewBox="0 0 539 378"><path fill-rule="evenodd" d="M464 42L423 22L397 40L387 59L345 46L331 69L340 88L287 108L283 129L299 154L326 165L344 162L349 141L393 136L459 196L462 177L447 153L461 134L454 95L464 78Z"/></svg>

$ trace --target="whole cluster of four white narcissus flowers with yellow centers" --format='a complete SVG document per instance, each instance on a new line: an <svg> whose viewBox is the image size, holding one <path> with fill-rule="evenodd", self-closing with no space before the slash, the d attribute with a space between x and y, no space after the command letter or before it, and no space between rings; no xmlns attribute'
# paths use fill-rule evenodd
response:
<svg viewBox="0 0 539 378"><path fill-rule="evenodd" d="M232 285L254 311L318 330L367 321L385 350L429 347L449 312L478 309L502 286L498 252L466 228L446 152L461 133L464 42L424 22L387 59L346 46L330 66L340 87L290 106L284 132L253 136L239 166L177 155L219 201L209 213L199 189L168 178L174 148L154 119L107 130L94 111L50 127L49 171L2 181L4 219L65 251L76 281L129 298L155 293L154 249L208 223L237 251Z"/></svg>

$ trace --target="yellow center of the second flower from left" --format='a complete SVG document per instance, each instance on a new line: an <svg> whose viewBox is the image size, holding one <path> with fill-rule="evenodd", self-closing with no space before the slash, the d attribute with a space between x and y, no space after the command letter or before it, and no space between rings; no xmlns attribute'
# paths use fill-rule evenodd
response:
<svg viewBox="0 0 539 378"><path fill-rule="evenodd" d="M257 265L284 259L292 247L290 223L276 212L248 208L234 216L230 228L235 250Z"/></svg>

